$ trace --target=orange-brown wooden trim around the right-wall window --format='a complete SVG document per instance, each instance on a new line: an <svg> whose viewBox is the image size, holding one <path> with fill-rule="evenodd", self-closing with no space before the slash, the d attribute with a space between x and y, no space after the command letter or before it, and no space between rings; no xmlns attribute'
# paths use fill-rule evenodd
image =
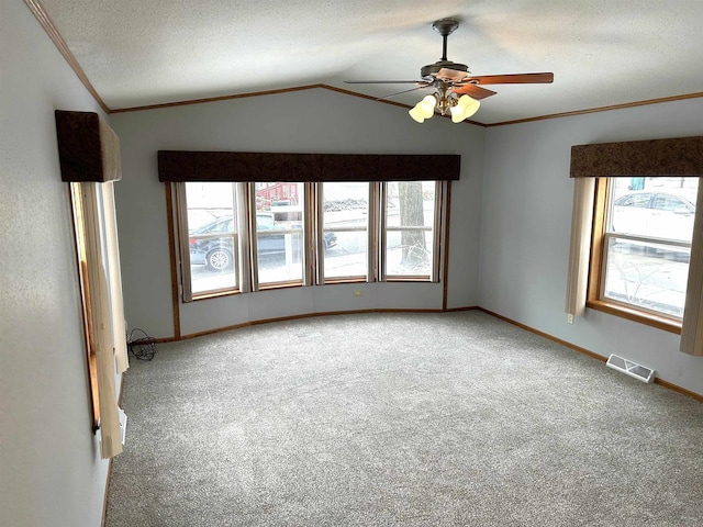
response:
<svg viewBox="0 0 703 527"><path fill-rule="evenodd" d="M607 244L606 222L607 204L610 202L610 178L595 179L595 195L593 200L593 222L591 232L591 253L589 258L589 280L585 306L611 315L621 316L629 321L681 334L682 321L663 314L632 307L623 302L602 298L605 281L605 244Z"/></svg>

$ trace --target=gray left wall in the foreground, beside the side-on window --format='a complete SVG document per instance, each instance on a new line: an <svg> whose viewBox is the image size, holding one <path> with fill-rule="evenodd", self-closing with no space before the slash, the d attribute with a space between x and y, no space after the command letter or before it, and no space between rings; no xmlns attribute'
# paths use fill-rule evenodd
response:
<svg viewBox="0 0 703 527"><path fill-rule="evenodd" d="M0 524L100 525L68 188L54 110L99 111L23 2L0 4Z"/></svg>

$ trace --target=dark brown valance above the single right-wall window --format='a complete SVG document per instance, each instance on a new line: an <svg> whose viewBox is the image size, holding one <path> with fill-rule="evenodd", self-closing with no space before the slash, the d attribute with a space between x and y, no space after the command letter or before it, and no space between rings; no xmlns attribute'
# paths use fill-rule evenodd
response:
<svg viewBox="0 0 703 527"><path fill-rule="evenodd" d="M703 176L703 137L571 147L572 178Z"/></svg>

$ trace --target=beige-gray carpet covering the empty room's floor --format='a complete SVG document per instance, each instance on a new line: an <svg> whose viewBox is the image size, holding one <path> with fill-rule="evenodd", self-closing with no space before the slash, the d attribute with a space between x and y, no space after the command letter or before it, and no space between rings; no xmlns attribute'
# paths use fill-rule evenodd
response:
<svg viewBox="0 0 703 527"><path fill-rule="evenodd" d="M481 312L132 360L107 527L700 526L703 405Z"/></svg>

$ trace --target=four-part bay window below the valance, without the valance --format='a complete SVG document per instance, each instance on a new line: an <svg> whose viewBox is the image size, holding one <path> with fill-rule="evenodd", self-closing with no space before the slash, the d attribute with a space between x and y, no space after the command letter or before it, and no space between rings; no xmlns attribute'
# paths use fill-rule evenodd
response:
<svg viewBox="0 0 703 527"><path fill-rule="evenodd" d="M438 281L434 248L445 186L177 183L182 299L355 281Z"/></svg>

